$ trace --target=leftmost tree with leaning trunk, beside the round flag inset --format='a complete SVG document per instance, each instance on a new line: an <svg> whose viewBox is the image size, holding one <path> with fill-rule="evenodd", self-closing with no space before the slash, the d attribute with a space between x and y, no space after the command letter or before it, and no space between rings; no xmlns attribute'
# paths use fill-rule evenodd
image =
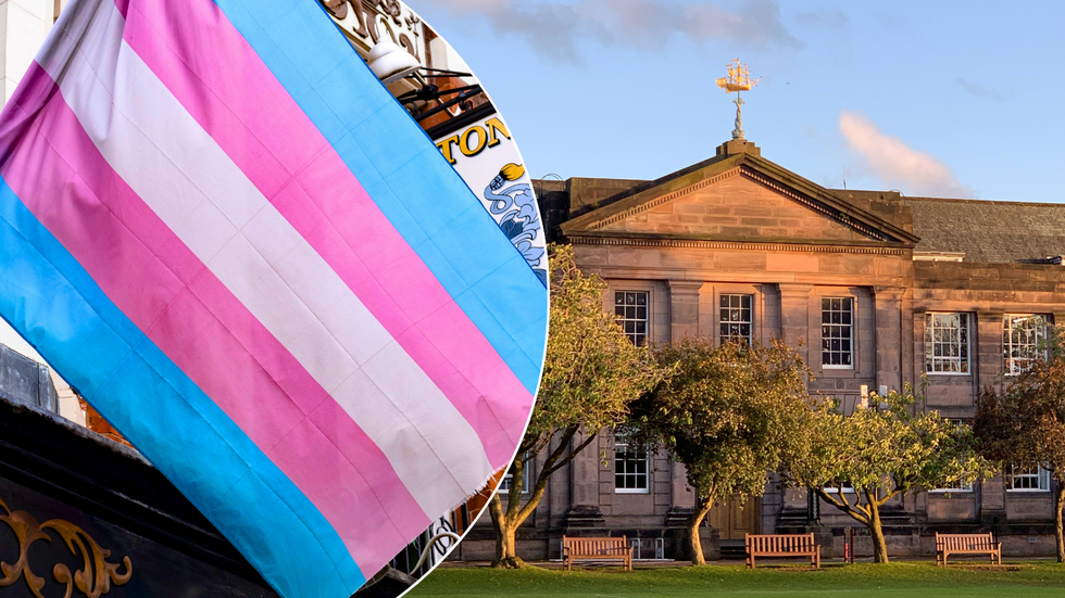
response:
<svg viewBox="0 0 1065 598"><path fill-rule="evenodd" d="M536 510L548 479L590 445L604 428L625 420L628 405L662 379L647 347L634 345L603 310L606 284L577 268L573 250L552 245L551 323L548 351L529 427L511 465L506 506L499 493L489 504L496 531L494 567L521 568L517 529ZM573 445L578 433L584 438ZM522 504L528 463L546 454L529 497Z"/></svg>

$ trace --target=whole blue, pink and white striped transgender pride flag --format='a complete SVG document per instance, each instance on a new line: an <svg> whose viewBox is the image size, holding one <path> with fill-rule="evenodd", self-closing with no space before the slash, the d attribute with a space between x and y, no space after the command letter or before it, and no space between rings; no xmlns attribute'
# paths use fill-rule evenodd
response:
<svg viewBox="0 0 1065 598"><path fill-rule="evenodd" d="M547 293L314 0L75 0L0 177L0 315L284 596L512 458Z"/></svg>

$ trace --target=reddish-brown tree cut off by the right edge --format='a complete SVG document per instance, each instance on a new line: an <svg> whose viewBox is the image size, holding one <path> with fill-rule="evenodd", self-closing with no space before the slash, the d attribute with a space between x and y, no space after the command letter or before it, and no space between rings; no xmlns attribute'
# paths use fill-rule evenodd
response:
<svg viewBox="0 0 1065 598"><path fill-rule="evenodd" d="M1065 562L1065 353L1056 332L1049 351L1001 391L986 389L973 429L980 451L1000 465L1039 465L1056 482L1054 500L1057 562Z"/></svg>

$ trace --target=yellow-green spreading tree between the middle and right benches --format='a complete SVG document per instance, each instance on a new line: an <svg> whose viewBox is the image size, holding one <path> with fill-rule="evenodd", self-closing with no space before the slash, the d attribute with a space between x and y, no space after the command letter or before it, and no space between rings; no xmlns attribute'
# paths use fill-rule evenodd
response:
<svg viewBox="0 0 1065 598"><path fill-rule="evenodd" d="M918 410L909 384L903 393L873 394L869 402L870 407L859 406L851 416L839 406L814 410L806 449L781 473L790 485L811 488L865 525L874 562L885 563L880 507L899 495L988 478L993 466L976 453L968 427Z"/></svg>

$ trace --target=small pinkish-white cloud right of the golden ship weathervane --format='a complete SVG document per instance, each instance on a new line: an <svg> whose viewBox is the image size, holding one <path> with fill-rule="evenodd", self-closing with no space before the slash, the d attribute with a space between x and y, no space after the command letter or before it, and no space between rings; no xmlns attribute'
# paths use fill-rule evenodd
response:
<svg viewBox="0 0 1065 598"><path fill-rule="evenodd" d="M914 150L898 137L880 131L865 116L843 111L839 130L848 148L857 153L869 170L886 186L907 195L973 198L973 189L962 185L950 167L939 160Z"/></svg>

